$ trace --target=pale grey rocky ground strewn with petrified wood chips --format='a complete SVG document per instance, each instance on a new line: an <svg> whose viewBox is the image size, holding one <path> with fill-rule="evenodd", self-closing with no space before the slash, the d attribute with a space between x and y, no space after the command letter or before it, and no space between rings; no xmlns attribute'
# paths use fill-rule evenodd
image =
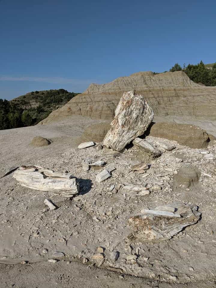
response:
<svg viewBox="0 0 216 288"><path fill-rule="evenodd" d="M32 283L38 287L80 287L81 283L89 287L214 287L216 143L192 149L169 141L176 149L163 151L156 159L128 146L121 156L114 157L97 145L77 148L87 123L97 121L77 116L73 124L0 131L0 176L12 166L35 164L67 170L80 185L79 195L67 199L22 187L12 175L0 180L2 287L32 287ZM51 144L32 147L29 143L35 136L45 137ZM149 137L149 141L155 138ZM178 163L176 158L183 161ZM83 161L87 159L103 160L106 167L116 169L109 179L98 183L96 175L104 168L85 171ZM144 174L131 171L131 166L141 161L149 164L149 170ZM142 196L126 190L121 185L125 182L143 184L151 193ZM49 210L45 198L58 209ZM166 241L128 238L130 217L176 201L197 205L201 220ZM92 258L97 249L104 252L100 261ZM116 261L113 251L119 252ZM127 260L131 255L136 255L136 261Z"/></svg>

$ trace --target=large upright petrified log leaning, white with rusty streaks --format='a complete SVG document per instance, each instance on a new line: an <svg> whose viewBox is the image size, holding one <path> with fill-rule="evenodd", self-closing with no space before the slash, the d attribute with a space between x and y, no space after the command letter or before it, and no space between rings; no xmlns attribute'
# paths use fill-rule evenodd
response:
<svg viewBox="0 0 216 288"><path fill-rule="evenodd" d="M115 117L103 145L121 151L146 131L153 117L154 112L142 95L134 91L125 92L116 107Z"/></svg>

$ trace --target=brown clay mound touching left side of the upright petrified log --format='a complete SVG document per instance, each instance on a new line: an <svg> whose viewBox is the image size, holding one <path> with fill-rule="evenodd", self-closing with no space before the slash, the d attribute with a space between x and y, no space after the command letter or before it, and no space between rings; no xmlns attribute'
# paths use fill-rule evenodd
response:
<svg viewBox="0 0 216 288"><path fill-rule="evenodd" d="M94 141L100 143L110 130L110 122L101 122L88 126L83 132L79 142Z"/></svg>

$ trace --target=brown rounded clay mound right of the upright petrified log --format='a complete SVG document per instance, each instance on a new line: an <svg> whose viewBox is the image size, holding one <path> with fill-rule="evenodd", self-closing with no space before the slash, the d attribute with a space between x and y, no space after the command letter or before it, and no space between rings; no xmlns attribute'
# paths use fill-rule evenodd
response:
<svg viewBox="0 0 216 288"><path fill-rule="evenodd" d="M190 148L205 148L210 142L206 131L198 126L188 124L152 123L145 134L146 136L174 140L180 145ZM212 135L210 137L212 140L215 139Z"/></svg>

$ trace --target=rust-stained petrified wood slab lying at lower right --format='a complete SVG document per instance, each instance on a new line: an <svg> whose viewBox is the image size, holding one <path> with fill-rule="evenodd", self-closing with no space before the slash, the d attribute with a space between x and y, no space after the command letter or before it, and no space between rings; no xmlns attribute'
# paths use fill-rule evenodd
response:
<svg viewBox="0 0 216 288"><path fill-rule="evenodd" d="M143 214L131 217L128 223L132 228L132 233L128 237L139 242L168 240L184 227L195 224L201 215L196 205L175 202L166 206L167 210L174 208L175 212L143 210L141 211Z"/></svg>

